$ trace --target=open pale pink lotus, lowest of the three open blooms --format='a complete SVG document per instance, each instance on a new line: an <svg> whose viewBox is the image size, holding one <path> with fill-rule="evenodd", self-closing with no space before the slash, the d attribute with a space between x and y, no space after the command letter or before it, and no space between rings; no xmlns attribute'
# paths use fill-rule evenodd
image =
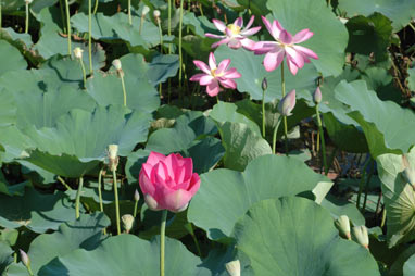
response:
<svg viewBox="0 0 415 276"><path fill-rule="evenodd" d="M229 68L230 59L223 60L216 66L216 59L213 52L209 54L209 66L202 61L193 61L204 74L196 74L190 78L190 81L199 81L201 86L208 86L206 92L214 97L221 91L219 84L225 88L236 89L237 83L234 78L239 78L242 75L236 68Z"/></svg>

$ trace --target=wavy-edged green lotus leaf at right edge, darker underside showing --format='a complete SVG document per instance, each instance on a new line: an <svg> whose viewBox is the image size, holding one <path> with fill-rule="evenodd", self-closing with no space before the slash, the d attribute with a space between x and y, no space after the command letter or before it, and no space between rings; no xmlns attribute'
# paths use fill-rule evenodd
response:
<svg viewBox="0 0 415 276"><path fill-rule="evenodd" d="M372 155L407 152L413 145L411 135L415 136L415 114L394 102L381 101L364 80L347 86L335 92L336 98L350 106L348 115L362 126Z"/></svg>

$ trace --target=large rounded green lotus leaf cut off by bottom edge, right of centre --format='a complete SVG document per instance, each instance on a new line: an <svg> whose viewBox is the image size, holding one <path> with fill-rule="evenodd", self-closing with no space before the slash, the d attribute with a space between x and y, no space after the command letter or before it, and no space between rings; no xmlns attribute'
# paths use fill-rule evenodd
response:
<svg viewBox="0 0 415 276"><path fill-rule="evenodd" d="M306 199L263 200L236 224L234 235L255 275L380 275L369 251L341 239L330 214Z"/></svg>

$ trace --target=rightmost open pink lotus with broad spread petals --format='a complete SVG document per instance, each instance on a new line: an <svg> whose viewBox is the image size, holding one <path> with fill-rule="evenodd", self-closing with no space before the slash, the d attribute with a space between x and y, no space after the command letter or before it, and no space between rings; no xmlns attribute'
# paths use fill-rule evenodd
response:
<svg viewBox="0 0 415 276"><path fill-rule="evenodd" d="M304 66L304 63L310 62L310 58L318 59L317 54L312 50L297 45L311 38L314 35L313 32L305 28L292 36L282 28L278 21L275 20L273 25L264 16L262 16L262 21L276 40L256 42L254 47L255 54L265 53L264 67L266 71L274 71L281 64L284 57L287 55L287 65L292 75L295 75L298 70Z"/></svg>

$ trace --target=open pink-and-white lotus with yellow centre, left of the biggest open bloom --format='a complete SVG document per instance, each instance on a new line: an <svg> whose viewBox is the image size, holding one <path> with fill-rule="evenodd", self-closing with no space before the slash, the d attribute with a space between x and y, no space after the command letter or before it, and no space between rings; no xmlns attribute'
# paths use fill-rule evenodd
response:
<svg viewBox="0 0 415 276"><path fill-rule="evenodd" d="M260 29L261 26L259 27L253 27L252 26L253 21L255 20L255 16L251 16L251 20L248 22L248 25L242 29L243 26L243 20L242 17L238 17L234 24L225 25L222 21L218 20L213 20L213 24L215 24L216 28L224 33L224 35L214 35L206 33L205 36L210 38L218 38L221 41L213 43L212 48L218 47L219 45L226 43L229 48L232 49L238 49L240 47L246 48L247 50L252 51L255 41L249 39L249 36L255 35Z"/></svg>

